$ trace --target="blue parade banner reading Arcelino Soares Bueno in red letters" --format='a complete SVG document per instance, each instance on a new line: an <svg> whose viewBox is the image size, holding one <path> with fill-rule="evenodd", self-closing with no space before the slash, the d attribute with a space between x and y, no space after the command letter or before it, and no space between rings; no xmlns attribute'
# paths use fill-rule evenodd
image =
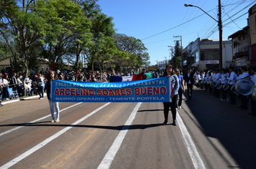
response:
<svg viewBox="0 0 256 169"><path fill-rule="evenodd" d="M129 82L53 80L52 102L171 102L169 77Z"/></svg>

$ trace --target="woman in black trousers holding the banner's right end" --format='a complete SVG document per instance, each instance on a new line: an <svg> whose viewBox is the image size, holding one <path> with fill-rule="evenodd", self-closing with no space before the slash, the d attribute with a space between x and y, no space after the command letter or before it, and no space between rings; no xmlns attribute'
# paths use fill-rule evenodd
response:
<svg viewBox="0 0 256 169"><path fill-rule="evenodd" d="M163 102L163 107L164 107L164 115L165 115L165 121L163 122L163 125L168 124L168 114L169 114L169 108L173 114L173 125L177 125L176 121L176 106L177 106L177 100L178 100L178 89L179 89L179 81L177 75L173 73L173 66L168 65L165 67L165 72L163 74L163 77L170 77L171 81L171 87L172 87L172 93L170 95L170 98L172 99L171 102Z"/></svg>

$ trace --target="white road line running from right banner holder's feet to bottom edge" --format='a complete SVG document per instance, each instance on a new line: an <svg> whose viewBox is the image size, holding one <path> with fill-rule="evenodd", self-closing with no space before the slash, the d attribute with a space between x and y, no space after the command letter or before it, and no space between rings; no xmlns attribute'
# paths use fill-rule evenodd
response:
<svg viewBox="0 0 256 169"><path fill-rule="evenodd" d="M198 154L198 151L196 150L196 145L193 143L191 135L189 135L189 132L186 126L184 125L182 118L178 114L178 111L177 111L177 121L178 121L178 126L180 127L181 134L183 135L183 138L187 145L188 153L191 156L191 160L193 162L194 168L205 169L204 162L201 159L200 155Z"/></svg>

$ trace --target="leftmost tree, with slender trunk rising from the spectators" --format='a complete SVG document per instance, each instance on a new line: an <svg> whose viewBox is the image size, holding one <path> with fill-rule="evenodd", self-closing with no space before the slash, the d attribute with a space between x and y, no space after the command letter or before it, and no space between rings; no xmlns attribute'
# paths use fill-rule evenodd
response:
<svg viewBox="0 0 256 169"><path fill-rule="evenodd" d="M24 0L19 5L17 1L2 1L0 16L1 37L8 45L12 56L17 58L19 55L27 76L29 49L45 33L45 19L37 14L35 1Z"/></svg>

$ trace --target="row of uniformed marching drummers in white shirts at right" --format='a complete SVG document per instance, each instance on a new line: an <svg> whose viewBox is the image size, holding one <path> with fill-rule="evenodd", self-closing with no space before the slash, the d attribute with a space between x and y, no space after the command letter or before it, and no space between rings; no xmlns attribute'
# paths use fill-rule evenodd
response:
<svg viewBox="0 0 256 169"><path fill-rule="evenodd" d="M191 69L188 68L188 72ZM185 73L190 74L190 73ZM231 105L237 104L237 98L242 102L239 105L241 110L247 110L248 104L252 105L252 112L250 115L256 116L256 67L252 66L249 69L247 67L229 67L226 69L213 69L213 70L201 70L192 72L194 84L201 89L211 93L214 97L220 98L222 101L227 101ZM186 75L187 76L187 75ZM242 83L242 79L243 83ZM236 91L236 86L239 91ZM251 92L244 92L250 90ZM244 92L244 93L242 93ZM252 95L253 93L253 95ZM188 97L190 95L188 94Z"/></svg>

